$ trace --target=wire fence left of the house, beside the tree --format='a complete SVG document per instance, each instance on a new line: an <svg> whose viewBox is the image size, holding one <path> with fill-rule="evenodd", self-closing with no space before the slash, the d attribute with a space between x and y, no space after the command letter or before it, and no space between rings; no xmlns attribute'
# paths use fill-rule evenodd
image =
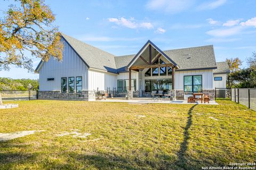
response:
<svg viewBox="0 0 256 170"><path fill-rule="evenodd" d="M36 100L36 90L1 90L2 100Z"/></svg>

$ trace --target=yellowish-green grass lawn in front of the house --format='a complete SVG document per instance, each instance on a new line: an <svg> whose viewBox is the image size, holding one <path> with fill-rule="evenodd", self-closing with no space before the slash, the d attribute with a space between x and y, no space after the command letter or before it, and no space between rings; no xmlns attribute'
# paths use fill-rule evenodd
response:
<svg viewBox="0 0 256 170"><path fill-rule="evenodd" d="M217 102L13 101L18 108L0 110L0 133L45 131L0 141L0 169L202 169L255 162L256 112ZM65 131L91 135L58 137Z"/></svg>

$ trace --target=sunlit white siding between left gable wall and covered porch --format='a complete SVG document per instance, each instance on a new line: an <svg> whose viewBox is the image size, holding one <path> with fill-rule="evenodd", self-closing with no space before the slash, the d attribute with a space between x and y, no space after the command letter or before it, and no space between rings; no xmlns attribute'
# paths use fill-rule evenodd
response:
<svg viewBox="0 0 256 170"><path fill-rule="evenodd" d="M107 72L88 70L88 89L89 90L113 90L116 87L116 74Z"/></svg>

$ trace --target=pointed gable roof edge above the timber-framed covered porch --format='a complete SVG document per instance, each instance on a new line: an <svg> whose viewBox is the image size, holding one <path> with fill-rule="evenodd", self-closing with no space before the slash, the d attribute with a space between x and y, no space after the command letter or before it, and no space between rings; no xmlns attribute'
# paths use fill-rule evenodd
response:
<svg viewBox="0 0 256 170"><path fill-rule="evenodd" d="M167 60L169 60L175 67L178 67L178 64L176 64L169 56L167 56L161 49L159 49L154 43L152 43L150 40L147 41L147 43L139 50L139 52L133 57L132 61L126 66L126 69L129 69L131 65L140 57L140 55L144 52L144 50L151 45L153 48L155 48L160 54L162 54Z"/></svg>

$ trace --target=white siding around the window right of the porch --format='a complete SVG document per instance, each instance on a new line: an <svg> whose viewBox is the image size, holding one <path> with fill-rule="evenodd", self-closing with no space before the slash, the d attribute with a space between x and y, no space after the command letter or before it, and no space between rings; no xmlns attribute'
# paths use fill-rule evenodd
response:
<svg viewBox="0 0 256 170"><path fill-rule="evenodd" d="M183 90L184 75L202 75L203 89L214 89L213 87L213 70L195 70L195 71L175 71L174 72L174 88Z"/></svg>

